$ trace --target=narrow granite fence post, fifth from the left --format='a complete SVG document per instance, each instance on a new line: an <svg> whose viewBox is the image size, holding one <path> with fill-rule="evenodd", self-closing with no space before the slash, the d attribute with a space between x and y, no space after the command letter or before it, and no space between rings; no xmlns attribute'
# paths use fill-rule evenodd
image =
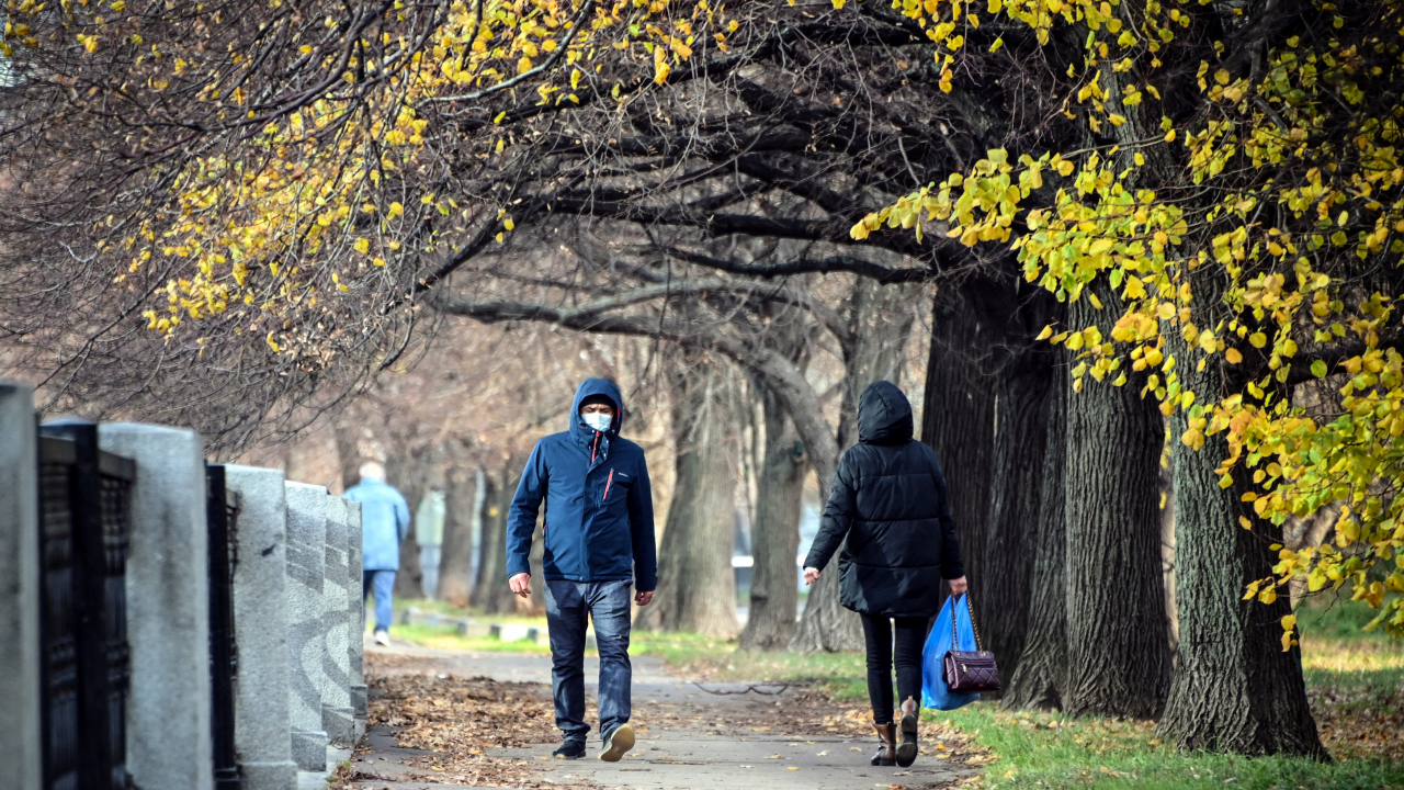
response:
<svg viewBox="0 0 1404 790"><path fill-rule="evenodd" d="M327 619L327 652L323 654L322 727L337 745L350 745L355 737L355 711L351 708L351 611L347 603L347 554L351 529L347 500L327 495L326 581L322 585L323 611Z"/></svg>

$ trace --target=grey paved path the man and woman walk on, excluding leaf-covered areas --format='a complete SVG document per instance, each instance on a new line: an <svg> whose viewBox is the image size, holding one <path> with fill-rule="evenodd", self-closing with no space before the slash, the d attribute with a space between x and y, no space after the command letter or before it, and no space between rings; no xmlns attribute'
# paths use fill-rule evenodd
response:
<svg viewBox="0 0 1404 790"><path fill-rule="evenodd" d="M369 649L369 648L368 648ZM542 683L549 697L550 658L521 654L469 654L395 645L376 648L396 656L388 673L483 676L500 682ZM587 696L594 699L597 666L587 665ZM922 756L910 769L873 768L868 758L876 738L855 738L807 723L781 717L795 700L785 686L743 683L696 685L663 671L661 661L640 656L633 662L633 718L639 732L635 749L618 763L595 758L598 739L581 760L552 760L556 744L515 749L490 749L484 756L514 760L534 769L532 786L571 786L647 790L873 790L949 787L979 773L948 765L943 744L924 744ZM812 724L812 725L810 725ZM425 783L423 758L430 752L403 748L388 727L372 727L352 768L362 790L441 790L466 784ZM411 760L420 760L420 766Z"/></svg>

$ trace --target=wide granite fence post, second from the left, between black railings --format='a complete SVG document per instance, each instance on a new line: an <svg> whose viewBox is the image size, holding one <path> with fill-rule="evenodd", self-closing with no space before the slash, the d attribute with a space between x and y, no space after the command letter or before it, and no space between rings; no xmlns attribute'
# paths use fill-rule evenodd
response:
<svg viewBox="0 0 1404 790"><path fill-rule="evenodd" d="M126 555L126 772L142 790L211 790L205 448L194 432L136 423L98 426L98 444L136 461Z"/></svg>

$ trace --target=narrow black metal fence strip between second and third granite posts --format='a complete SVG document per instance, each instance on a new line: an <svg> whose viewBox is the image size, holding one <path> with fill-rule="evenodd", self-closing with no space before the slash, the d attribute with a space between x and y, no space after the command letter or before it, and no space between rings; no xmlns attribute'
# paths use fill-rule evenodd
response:
<svg viewBox="0 0 1404 790"><path fill-rule="evenodd" d="M234 568L239 565L239 493L225 486L225 467L205 465L205 522L209 529L209 680L215 790L240 790L234 752Z"/></svg>

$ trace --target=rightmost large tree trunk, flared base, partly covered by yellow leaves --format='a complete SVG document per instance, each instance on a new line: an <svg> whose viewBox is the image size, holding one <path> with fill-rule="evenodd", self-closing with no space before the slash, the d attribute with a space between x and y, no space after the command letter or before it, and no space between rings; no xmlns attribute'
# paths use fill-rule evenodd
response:
<svg viewBox="0 0 1404 790"><path fill-rule="evenodd" d="M1196 371L1198 354L1178 333L1168 336L1184 387L1206 398L1220 392L1220 357ZM1179 665L1160 734L1185 749L1330 759L1307 704L1300 648L1282 649L1280 620L1292 611L1287 588L1276 590L1272 604L1243 600L1248 582L1272 576L1271 545L1280 543L1282 530L1257 520L1241 502L1248 485L1219 486L1214 468L1228 451L1223 434L1195 451L1179 440L1186 429L1188 415L1175 412ZM1248 472L1240 467L1234 474ZM1251 530L1240 526L1240 516L1250 519Z"/></svg>

